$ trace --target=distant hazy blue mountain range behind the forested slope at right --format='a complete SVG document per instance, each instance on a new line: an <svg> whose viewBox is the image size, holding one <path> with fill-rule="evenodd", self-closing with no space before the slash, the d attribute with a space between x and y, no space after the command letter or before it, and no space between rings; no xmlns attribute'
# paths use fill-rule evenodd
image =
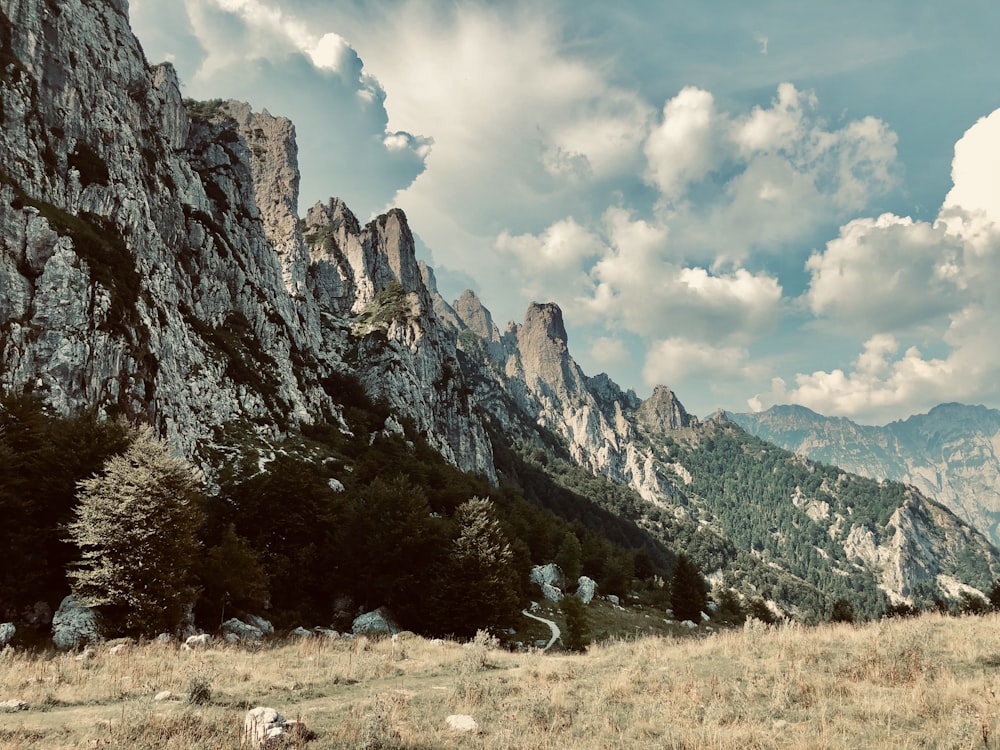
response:
<svg viewBox="0 0 1000 750"><path fill-rule="evenodd" d="M748 432L815 461L919 489L1000 544L1000 411L941 404L875 427L802 406L730 414Z"/></svg>

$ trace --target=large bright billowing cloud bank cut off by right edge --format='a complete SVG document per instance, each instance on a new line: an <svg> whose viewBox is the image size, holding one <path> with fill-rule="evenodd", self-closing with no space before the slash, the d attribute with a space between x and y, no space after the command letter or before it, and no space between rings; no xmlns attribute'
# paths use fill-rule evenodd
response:
<svg viewBox="0 0 1000 750"><path fill-rule="evenodd" d="M954 188L934 223L857 219L810 257L803 302L864 345L850 367L799 373L791 388L773 381L753 407L794 402L871 422L1000 397L998 142L1000 110L956 145Z"/></svg>

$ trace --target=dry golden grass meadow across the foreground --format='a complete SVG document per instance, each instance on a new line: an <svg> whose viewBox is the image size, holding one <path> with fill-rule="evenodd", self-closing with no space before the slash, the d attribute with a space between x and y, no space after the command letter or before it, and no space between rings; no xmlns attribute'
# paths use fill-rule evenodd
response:
<svg viewBox="0 0 1000 750"><path fill-rule="evenodd" d="M1000 616L648 636L586 654L313 639L251 651L142 645L77 661L5 652L0 750L235 748L247 708L305 747L1000 748ZM192 704L193 687L208 686ZM175 694L156 702L162 690ZM202 696L205 697L204 695ZM447 728L470 714L478 734ZM294 746L294 744L292 745Z"/></svg>

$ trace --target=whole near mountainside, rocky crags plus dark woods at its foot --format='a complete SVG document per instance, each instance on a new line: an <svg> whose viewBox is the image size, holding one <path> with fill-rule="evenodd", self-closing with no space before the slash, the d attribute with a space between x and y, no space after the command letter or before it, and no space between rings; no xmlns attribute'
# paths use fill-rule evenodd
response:
<svg viewBox="0 0 1000 750"><path fill-rule="evenodd" d="M331 198L297 216L292 123L185 101L123 0L0 14L0 542L18 553L0 616L68 591L77 482L126 449L118 419L206 478L184 582L202 627L389 605L471 635L537 598L529 572L558 556L665 610L686 554L737 609L808 621L1000 575L918 491L588 376L554 304L501 332L474 293L444 300L402 211L362 224Z"/></svg>

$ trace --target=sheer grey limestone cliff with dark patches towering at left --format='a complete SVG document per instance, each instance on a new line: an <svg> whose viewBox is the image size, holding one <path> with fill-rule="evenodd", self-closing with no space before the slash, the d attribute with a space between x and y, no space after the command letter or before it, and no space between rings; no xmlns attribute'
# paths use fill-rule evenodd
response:
<svg viewBox="0 0 1000 750"><path fill-rule="evenodd" d="M362 229L332 201L303 232L292 124L238 102L189 110L173 69L146 63L124 2L0 12L5 389L141 416L197 454L233 423L336 420L325 375L350 370L493 477L457 386L426 387L457 370L455 342L401 212ZM405 311L356 325L397 287Z"/></svg>

